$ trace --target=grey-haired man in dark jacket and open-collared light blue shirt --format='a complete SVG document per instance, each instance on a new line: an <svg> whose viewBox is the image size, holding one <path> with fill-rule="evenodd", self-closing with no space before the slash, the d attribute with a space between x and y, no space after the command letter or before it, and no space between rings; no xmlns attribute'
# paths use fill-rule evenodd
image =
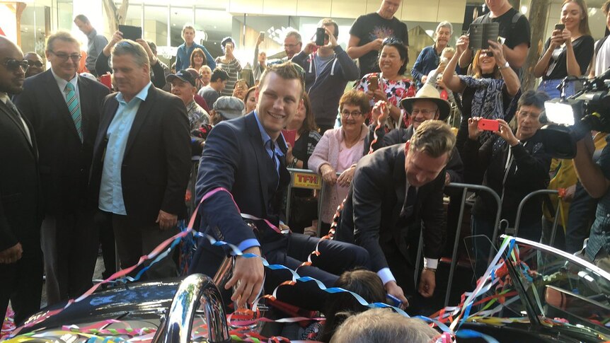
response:
<svg viewBox="0 0 610 343"><path fill-rule="evenodd" d="M93 200L113 223L121 267L131 267L178 233L186 215L190 134L186 107L153 86L144 48L121 40L111 53L118 93L102 107L93 149ZM175 277L171 257L146 272L149 279Z"/></svg>

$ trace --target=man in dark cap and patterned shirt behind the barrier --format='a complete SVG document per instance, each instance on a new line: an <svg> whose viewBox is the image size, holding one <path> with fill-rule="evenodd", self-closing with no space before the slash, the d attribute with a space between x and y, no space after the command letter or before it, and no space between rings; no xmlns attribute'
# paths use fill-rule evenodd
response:
<svg viewBox="0 0 610 343"><path fill-rule="evenodd" d="M192 74L186 70L179 70L175 74L169 74L167 81L171 83L171 93L182 99L186 106L190 129L197 129L201 124L209 124L209 114L195 103L197 86Z"/></svg>

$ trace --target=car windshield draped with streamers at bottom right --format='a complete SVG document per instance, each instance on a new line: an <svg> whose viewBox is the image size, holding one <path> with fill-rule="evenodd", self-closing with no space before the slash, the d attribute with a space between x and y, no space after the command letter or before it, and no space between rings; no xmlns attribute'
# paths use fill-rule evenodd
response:
<svg viewBox="0 0 610 343"><path fill-rule="evenodd" d="M484 246L487 240L490 246L487 238L469 239L467 245ZM530 323L610 339L609 273L546 245L501 239L500 254L492 250L490 267L462 305L462 320Z"/></svg>

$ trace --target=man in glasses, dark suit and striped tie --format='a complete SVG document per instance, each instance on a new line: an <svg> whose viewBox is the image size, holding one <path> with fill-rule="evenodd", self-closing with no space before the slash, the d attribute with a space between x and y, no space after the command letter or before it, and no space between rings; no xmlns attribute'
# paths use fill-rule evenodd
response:
<svg viewBox="0 0 610 343"><path fill-rule="evenodd" d="M46 204L42 251L52 305L91 287L98 232L95 209L86 206L86 190L108 88L79 76L81 47L69 33L50 35L45 54L51 68L25 80L23 93L14 100L38 139Z"/></svg>

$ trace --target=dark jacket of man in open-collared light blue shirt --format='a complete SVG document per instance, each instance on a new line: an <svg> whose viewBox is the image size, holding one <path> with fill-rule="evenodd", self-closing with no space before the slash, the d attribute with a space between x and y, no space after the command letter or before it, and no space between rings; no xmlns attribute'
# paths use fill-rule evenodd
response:
<svg viewBox="0 0 610 343"><path fill-rule="evenodd" d="M96 206L108 144L106 133L118 107L116 93L105 98L91 165L91 202ZM127 216L152 224L161 209L185 218L185 192L192 166L189 128L182 100L151 85L134 118L121 165Z"/></svg>

